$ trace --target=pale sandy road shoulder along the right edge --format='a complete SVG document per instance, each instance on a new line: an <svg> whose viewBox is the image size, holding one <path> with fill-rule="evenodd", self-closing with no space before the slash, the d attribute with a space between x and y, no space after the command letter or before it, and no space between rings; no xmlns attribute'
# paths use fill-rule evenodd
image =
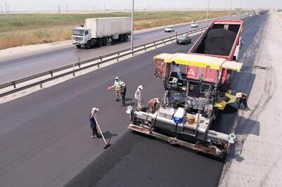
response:
<svg viewBox="0 0 282 187"><path fill-rule="evenodd" d="M238 112L238 138L219 186L282 185L282 39L278 37L282 18L271 12L262 33L254 41L260 45L250 67L255 76L249 99L252 110Z"/></svg>

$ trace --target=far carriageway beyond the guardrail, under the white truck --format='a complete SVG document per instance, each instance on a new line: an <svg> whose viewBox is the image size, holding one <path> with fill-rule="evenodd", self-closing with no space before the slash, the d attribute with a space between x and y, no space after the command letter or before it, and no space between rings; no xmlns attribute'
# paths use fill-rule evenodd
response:
<svg viewBox="0 0 282 187"><path fill-rule="evenodd" d="M231 17L229 19L235 18L237 17ZM204 27L204 22L199 22L199 27ZM197 28L190 28L190 24L176 26L176 32L178 33L195 29ZM173 36L176 32L165 33L163 28L138 32L135 34L135 45L145 44L149 41ZM78 57L80 57L80 60L87 60L128 48L130 48L130 41L116 43L113 45L109 44L108 46L102 46L100 48L93 48L90 50L76 49L75 46L71 45L54 51L0 60L0 84L28 77L30 75L35 75L47 70L52 70L64 65L77 63Z"/></svg>

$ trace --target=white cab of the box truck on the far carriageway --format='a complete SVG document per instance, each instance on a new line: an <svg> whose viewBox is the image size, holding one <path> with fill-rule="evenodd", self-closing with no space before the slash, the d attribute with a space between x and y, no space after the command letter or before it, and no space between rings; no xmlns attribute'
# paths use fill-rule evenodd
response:
<svg viewBox="0 0 282 187"><path fill-rule="evenodd" d="M87 29L85 27L76 27L73 29L73 44L75 44L79 49L81 48L81 46L90 48L91 47L90 39L91 39L91 29ZM88 44L87 41L89 41Z"/></svg>

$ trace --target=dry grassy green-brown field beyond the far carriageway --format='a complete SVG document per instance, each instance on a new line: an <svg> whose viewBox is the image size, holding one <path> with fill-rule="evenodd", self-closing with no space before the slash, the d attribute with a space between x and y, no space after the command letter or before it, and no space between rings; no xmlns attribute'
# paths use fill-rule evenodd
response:
<svg viewBox="0 0 282 187"><path fill-rule="evenodd" d="M235 14L236 12L232 12ZM212 11L209 18L228 15L228 11ZM130 16L128 12L85 14L10 14L0 15L0 50L13 46L44 44L71 39L73 27L83 24L85 18ZM135 30L162 25L173 25L192 20L203 20L205 11L136 12Z"/></svg>

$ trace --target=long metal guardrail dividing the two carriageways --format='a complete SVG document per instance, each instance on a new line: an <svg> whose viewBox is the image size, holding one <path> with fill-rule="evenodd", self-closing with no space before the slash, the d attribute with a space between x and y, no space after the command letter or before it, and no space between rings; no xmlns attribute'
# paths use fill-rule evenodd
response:
<svg viewBox="0 0 282 187"><path fill-rule="evenodd" d="M75 72L79 72L81 70L86 70L86 69L88 69L90 67L94 67L94 66L99 67L99 65L101 65L102 63L107 63L107 62L109 62L111 60L118 60L118 58L122 58L123 56L128 56L128 55L132 55L133 56L134 53L137 53L139 51L144 51L144 50L146 51L147 49L150 49L152 47L156 47L157 48L158 45L166 44L166 42L173 41L179 35L182 35L182 34L192 34L192 33L195 33L195 32L202 32L205 29L206 29L205 27L202 27L202 28L197 29L197 30L191 30L189 32L183 32L183 33L180 33L180 34L177 34L177 32L176 32L176 35L174 35L172 37L166 37L164 39L158 39L156 41L151 41L151 42L147 42L145 44L140 44L138 46L134 46L133 51L131 51L130 48L123 49L121 51L117 51L117 52L114 52L114 53L109 53L109 54L106 54L104 56L98 56L98 57L95 57L95 58L90 58L88 60L83 60L81 62L80 62L80 58L78 57L78 63L73 63L71 65L66 65L66 66L63 66L63 67L59 67L59 68L56 68L54 70L49 70L47 72L39 73L37 75L32 75L30 77L25 77L23 79L18 79L18 80L12 81L12 82L8 82L6 84L1 84L0 85L0 89L5 89L5 88L7 88L9 86L13 86L14 89L12 89L10 91L6 91L4 93L0 93L0 98L3 97L3 96L8 96L11 93L16 93L18 91L22 91L24 89L31 88L33 86L40 85L40 87L42 87L42 84L44 82L50 82L51 80L58 79L60 77L65 77L66 75L73 74L73 76L75 76ZM128 53L125 53L126 51L128 51ZM123 53L123 54L121 54L121 53ZM110 56L114 56L114 57L108 58ZM108 59L103 60L104 58L108 58ZM94 60L100 60L100 61L97 62L97 63L93 63L93 64L90 64L90 65L87 65L85 67L81 67L81 65L83 65L85 63L90 63L90 62L92 62ZM75 67L78 67L78 69L75 69ZM70 68L73 68L73 70L68 71L68 72L64 72L64 73L62 73L60 75L54 76L55 72L61 72L63 70L67 70L67 69L70 69ZM32 79L37 79L39 77L43 77L43 76L46 76L46 75L51 75L51 77L49 77L47 79L44 79L44 80L39 80L37 82L32 82L32 83L27 84L25 86L17 87L17 84L20 84L20 83L23 83L23 82L27 82L27 81L30 81Z"/></svg>

